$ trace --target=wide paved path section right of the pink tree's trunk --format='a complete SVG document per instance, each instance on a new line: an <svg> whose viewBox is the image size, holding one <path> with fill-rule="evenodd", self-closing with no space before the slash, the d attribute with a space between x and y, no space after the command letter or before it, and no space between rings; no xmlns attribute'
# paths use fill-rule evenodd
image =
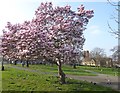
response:
<svg viewBox="0 0 120 93"><path fill-rule="evenodd" d="M111 87L112 89L120 91L120 85L118 85L118 77L117 76L98 74L97 76L67 75L67 77L76 79L76 80L88 81L93 84ZM119 84L120 84L120 81L119 81Z"/></svg>

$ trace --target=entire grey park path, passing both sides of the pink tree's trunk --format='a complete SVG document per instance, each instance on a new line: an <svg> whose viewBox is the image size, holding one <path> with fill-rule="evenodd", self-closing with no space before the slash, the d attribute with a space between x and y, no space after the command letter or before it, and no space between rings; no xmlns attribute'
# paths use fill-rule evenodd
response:
<svg viewBox="0 0 120 93"><path fill-rule="evenodd" d="M23 67L18 67L18 66L8 66L8 67L13 67L13 68L16 68L16 69L19 69L19 70L25 70L25 71L30 71L30 72L36 72L38 74L50 74L50 75L57 76L57 74L53 73L53 72L43 72L43 71L40 71L40 70L33 70L33 69L30 69L30 68L23 68ZM76 80L87 81L87 82L90 82L94 85L97 84L97 85L111 87L112 89L120 91L120 81L119 81L120 79L119 79L118 76L100 74L100 73L93 72L93 71L90 71L90 70L85 70L85 71L95 73L95 74L97 74L97 76L77 76L77 75L67 74L66 77L71 78L71 79L76 79Z"/></svg>

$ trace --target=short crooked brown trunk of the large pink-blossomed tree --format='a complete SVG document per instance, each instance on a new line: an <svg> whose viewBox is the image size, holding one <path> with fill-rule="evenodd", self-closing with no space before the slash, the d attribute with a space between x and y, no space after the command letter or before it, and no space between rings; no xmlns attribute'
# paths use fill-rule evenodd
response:
<svg viewBox="0 0 120 93"><path fill-rule="evenodd" d="M60 78L60 83L61 83L61 84L65 84L65 74L64 74L64 72L62 71L61 62L58 61L58 62L57 62L57 65L58 65L58 75L59 75L59 78Z"/></svg>

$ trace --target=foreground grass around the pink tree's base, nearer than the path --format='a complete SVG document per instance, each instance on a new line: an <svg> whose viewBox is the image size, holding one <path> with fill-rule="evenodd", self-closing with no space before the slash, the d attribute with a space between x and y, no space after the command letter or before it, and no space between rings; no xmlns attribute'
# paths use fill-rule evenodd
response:
<svg viewBox="0 0 120 93"><path fill-rule="evenodd" d="M113 91L111 88L93 85L85 81L67 78L66 82L66 84L61 85L56 76L18 70L7 66L2 72L3 91Z"/></svg>

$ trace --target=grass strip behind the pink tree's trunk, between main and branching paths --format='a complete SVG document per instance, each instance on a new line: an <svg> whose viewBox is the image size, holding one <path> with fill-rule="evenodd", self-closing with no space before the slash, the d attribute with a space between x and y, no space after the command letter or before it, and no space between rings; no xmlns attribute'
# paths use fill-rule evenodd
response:
<svg viewBox="0 0 120 93"><path fill-rule="evenodd" d="M20 66L21 65L17 65ZM25 66L25 68L27 68ZM51 72L51 73L58 73L58 69L56 65L50 66L50 65L30 65L29 66L30 69L33 70L38 70L38 71L42 71L42 72ZM65 74L70 74L70 75L80 75L80 76L96 76L96 74L85 71L84 69L73 69L71 66L66 66L63 65L62 69L64 71Z"/></svg>

